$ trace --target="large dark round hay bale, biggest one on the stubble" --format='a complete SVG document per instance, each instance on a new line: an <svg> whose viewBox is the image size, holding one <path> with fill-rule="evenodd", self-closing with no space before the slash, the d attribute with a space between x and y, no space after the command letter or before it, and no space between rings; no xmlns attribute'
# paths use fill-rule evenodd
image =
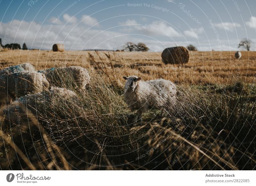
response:
<svg viewBox="0 0 256 186"><path fill-rule="evenodd" d="M182 46L166 48L162 52L162 60L164 64L185 64L189 61L189 51Z"/></svg>

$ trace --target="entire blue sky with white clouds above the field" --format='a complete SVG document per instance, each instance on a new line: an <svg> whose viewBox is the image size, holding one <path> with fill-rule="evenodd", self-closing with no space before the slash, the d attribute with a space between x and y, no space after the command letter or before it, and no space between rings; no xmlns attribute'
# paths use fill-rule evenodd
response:
<svg viewBox="0 0 256 186"><path fill-rule="evenodd" d="M121 50L145 43L151 52L192 44L202 51L256 50L255 0L0 0L2 44L33 49Z"/></svg>

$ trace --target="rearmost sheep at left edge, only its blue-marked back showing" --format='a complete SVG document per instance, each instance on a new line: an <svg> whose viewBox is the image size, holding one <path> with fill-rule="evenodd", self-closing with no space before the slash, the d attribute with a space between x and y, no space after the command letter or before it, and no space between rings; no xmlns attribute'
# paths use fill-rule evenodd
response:
<svg viewBox="0 0 256 186"><path fill-rule="evenodd" d="M35 72L36 69L33 65L29 63L15 65L15 66L9 66L7 68L4 68L3 70L0 70L0 75L3 74L13 74L17 72Z"/></svg>

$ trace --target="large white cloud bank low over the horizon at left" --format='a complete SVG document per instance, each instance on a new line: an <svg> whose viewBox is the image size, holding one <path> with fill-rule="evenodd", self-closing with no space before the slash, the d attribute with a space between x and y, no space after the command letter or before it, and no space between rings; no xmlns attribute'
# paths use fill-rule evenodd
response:
<svg viewBox="0 0 256 186"><path fill-rule="evenodd" d="M0 23L0 38L4 38L5 31L8 30L4 44L19 43L22 45L25 42L28 48L43 50L51 50L54 43L63 43L66 50L108 49L109 46L116 46L116 41L120 46L132 40L132 37L120 36L122 33L115 31L87 30L88 26L83 23L75 26L52 23L41 25L36 22L20 20L13 20L11 25L10 22ZM87 31L84 32L85 30ZM112 37L113 39L110 39Z"/></svg>

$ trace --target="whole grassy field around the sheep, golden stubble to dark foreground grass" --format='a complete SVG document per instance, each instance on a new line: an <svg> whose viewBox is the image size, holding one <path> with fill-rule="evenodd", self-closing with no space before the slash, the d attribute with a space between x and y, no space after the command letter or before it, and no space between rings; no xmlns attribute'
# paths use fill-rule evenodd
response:
<svg viewBox="0 0 256 186"><path fill-rule="evenodd" d="M193 51L178 66L164 65L153 52L1 52L0 69L82 66L92 81L85 92L73 90L81 105L71 100L53 110L21 109L19 125L8 118L12 102L2 105L0 168L254 170L256 52L243 51L241 60L234 53ZM151 109L142 125L133 123L136 113L122 96L122 77L130 75L171 80L178 104L167 105L167 112Z"/></svg>

